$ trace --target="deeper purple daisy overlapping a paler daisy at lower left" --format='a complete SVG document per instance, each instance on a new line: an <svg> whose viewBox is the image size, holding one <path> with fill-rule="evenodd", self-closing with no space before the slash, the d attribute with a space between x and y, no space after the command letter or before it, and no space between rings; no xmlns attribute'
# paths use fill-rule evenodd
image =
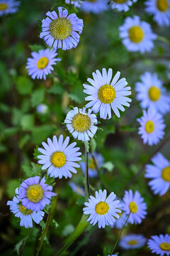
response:
<svg viewBox="0 0 170 256"><path fill-rule="evenodd" d="M45 184L45 177L40 176L27 178L18 188L18 198L28 210L42 210L50 204L50 198L56 196L52 192L52 186Z"/></svg>

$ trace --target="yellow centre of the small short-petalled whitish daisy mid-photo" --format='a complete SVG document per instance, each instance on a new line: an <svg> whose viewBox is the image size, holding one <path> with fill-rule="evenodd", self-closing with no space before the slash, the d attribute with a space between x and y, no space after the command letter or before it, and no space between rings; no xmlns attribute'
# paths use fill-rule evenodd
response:
<svg viewBox="0 0 170 256"><path fill-rule="evenodd" d="M72 119L72 127L77 132L86 132L91 127L91 119L88 114L75 114Z"/></svg>

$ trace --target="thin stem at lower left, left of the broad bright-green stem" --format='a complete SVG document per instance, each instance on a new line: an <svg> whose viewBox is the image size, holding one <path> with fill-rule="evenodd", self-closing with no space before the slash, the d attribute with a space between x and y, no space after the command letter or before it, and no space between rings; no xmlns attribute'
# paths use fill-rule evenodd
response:
<svg viewBox="0 0 170 256"><path fill-rule="evenodd" d="M55 206L56 206L56 203L57 203L57 198L58 198L58 196L55 196L52 199L52 206L50 208L50 213L49 213L49 215L47 217L47 222L45 224L45 229L43 230L42 235L40 237L40 242L38 242L38 246L36 248L35 256L38 256L39 252L41 250L43 240L45 239L45 235L47 234L47 230L48 230L48 228L50 226L50 223L52 221L52 217L53 217L53 214L54 214L54 211L55 211Z"/></svg>

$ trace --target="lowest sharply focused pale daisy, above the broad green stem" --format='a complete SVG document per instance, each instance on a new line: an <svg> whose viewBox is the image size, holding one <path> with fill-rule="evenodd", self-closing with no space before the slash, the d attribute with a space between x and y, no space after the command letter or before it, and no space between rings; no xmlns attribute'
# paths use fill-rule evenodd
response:
<svg viewBox="0 0 170 256"><path fill-rule="evenodd" d="M115 193L111 192L108 197L106 189L104 191L96 191L96 197L90 196L89 202L84 203L83 208L85 215L90 215L86 221L90 221L92 225L98 223L98 228L105 228L106 225L112 225L115 218L119 218L120 201L115 200Z"/></svg>

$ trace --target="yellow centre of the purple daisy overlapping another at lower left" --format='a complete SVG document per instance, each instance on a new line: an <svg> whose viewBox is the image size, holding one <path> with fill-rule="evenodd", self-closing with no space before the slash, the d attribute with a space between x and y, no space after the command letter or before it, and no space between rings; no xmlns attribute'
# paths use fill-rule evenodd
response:
<svg viewBox="0 0 170 256"><path fill-rule="evenodd" d="M26 192L27 198L33 203L38 203L44 196L44 190L39 184L30 185Z"/></svg>

